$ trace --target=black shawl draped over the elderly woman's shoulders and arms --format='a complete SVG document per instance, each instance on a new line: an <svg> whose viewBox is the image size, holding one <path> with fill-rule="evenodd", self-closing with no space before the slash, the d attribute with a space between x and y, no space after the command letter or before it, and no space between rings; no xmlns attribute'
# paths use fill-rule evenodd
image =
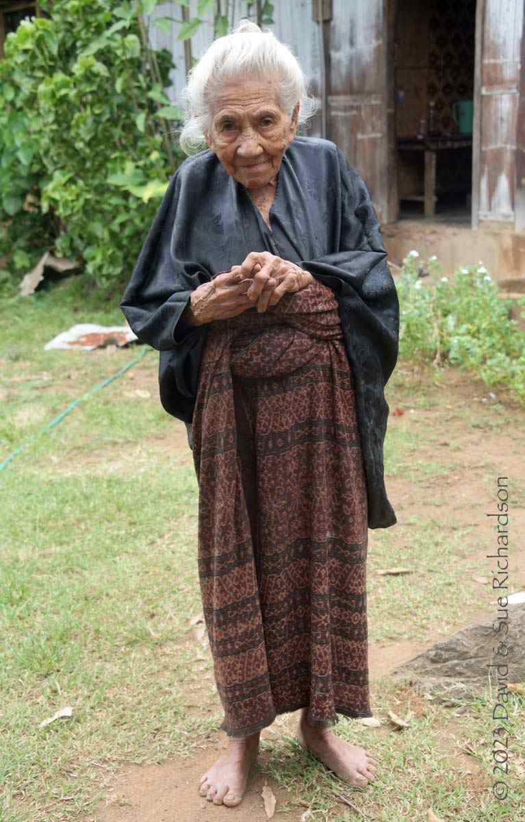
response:
<svg viewBox="0 0 525 822"><path fill-rule="evenodd" d="M206 326L180 321L191 291L269 251L297 263L338 299L356 384L369 528L397 520L385 492L385 384L398 356L399 307L365 182L329 140L296 136L279 168L272 230L246 189L206 149L170 178L120 303L137 337L160 351L163 408L191 424ZM191 429L190 429L191 430Z"/></svg>

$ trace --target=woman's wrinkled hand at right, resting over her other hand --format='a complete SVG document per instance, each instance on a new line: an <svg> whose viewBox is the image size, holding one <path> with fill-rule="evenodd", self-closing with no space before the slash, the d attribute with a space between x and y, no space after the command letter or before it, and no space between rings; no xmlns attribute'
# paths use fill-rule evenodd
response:
<svg viewBox="0 0 525 822"><path fill-rule="evenodd" d="M269 252L251 252L241 266L233 266L234 268L239 269L235 275L237 282L252 279L247 297L252 304L256 304L258 312L274 306L283 294L306 288L315 279L309 271L303 270L294 262L283 260Z"/></svg>

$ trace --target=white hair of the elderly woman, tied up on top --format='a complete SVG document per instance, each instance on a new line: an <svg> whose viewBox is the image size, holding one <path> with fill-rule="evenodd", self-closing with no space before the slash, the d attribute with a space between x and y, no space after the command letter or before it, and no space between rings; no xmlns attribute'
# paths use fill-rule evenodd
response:
<svg viewBox="0 0 525 822"><path fill-rule="evenodd" d="M182 90L185 109L179 142L191 155L206 145L205 131L211 125L211 104L221 86L237 77L278 81L278 102L288 116L300 104L297 125L306 122L317 109L317 100L308 95L306 77L297 58L272 31L262 31L249 20L237 23L229 35L214 40L188 73Z"/></svg>

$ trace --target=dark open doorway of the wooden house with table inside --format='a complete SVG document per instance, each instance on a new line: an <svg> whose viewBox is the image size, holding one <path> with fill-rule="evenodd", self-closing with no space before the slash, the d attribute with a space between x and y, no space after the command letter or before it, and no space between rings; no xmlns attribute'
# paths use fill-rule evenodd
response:
<svg viewBox="0 0 525 822"><path fill-rule="evenodd" d="M398 0L398 219L469 224L476 0Z"/></svg>

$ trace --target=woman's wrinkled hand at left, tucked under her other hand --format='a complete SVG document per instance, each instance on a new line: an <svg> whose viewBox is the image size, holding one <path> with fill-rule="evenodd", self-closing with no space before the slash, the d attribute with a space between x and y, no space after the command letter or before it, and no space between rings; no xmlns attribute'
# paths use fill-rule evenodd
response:
<svg viewBox="0 0 525 822"><path fill-rule="evenodd" d="M212 320L226 320L253 306L253 299L246 296L251 280L239 276L241 266L217 275L210 283L203 283L191 292L190 306L192 325L201 326Z"/></svg>

